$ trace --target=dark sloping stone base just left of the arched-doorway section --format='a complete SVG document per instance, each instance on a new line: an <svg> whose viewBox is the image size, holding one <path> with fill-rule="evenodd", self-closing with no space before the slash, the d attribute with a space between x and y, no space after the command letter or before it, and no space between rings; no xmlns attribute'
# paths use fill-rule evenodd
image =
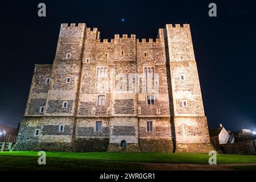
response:
<svg viewBox="0 0 256 182"><path fill-rule="evenodd" d="M109 138L76 138L73 151L76 152L106 152Z"/></svg>

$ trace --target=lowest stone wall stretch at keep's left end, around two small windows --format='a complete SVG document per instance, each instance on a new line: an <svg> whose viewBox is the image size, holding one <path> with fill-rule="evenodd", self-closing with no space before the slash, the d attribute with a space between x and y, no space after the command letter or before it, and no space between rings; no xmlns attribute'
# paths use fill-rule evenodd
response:
<svg viewBox="0 0 256 182"><path fill-rule="evenodd" d="M73 122L72 117L24 117L13 150L71 151ZM64 125L64 131L59 131L59 125Z"/></svg>

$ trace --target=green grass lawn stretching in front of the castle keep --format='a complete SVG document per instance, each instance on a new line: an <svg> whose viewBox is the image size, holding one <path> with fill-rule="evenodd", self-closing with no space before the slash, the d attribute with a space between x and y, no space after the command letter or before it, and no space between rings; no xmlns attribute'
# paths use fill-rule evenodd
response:
<svg viewBox="0 0 256 182"><path fill-rule="evenodd" d="M140 170L137 163L208 164L208 154L180 154L159 152L46 152L47 165L38 165L38 152L0 152L0 170ZM254 155L217 155L217 164L256 163Z"/></svg>

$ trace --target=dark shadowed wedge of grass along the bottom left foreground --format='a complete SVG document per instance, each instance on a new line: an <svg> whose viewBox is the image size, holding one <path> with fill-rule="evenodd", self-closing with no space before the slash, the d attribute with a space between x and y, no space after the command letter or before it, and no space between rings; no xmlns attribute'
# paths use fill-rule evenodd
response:
<svg viewBox="0 0 256 182"><path fill-rule="evenodd" d="M38 157L32 156L1 156L1 171L122 171L143 170L140 164L122 162L100 162L70 158L46 158L46 165L38 164Z"/></svg>

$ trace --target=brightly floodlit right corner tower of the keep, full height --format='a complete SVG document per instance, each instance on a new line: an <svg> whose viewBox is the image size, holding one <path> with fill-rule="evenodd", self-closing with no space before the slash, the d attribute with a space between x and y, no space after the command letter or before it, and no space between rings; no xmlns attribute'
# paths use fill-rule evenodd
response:
<svg viewBox="0 0 256 182"><path fill-rule="evenodd" d="M199 76L189 24L167 24L164 30L171 98L172 133L176 152L209 152L207 118L204 114Z"/></svg>

